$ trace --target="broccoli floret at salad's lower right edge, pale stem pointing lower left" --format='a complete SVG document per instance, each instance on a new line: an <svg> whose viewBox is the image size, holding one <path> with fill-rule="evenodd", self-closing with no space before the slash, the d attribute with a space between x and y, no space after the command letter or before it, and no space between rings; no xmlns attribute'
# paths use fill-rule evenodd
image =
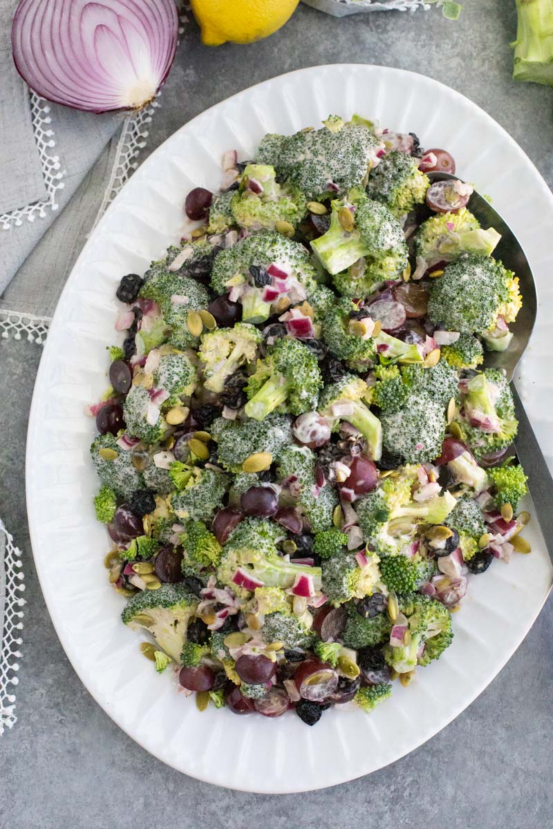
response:
<svg viewBox="0 0 553 829"><path fill-rule="evenodd" d="M386 645L384 657L395 671L407 673L417 665L428 665L438 659L451 644L454 634L448 608L428 596L414 593L400 599L400 611L407 617L410 642L400 647ZM424 652L418 656L423 644Z"/></svg>

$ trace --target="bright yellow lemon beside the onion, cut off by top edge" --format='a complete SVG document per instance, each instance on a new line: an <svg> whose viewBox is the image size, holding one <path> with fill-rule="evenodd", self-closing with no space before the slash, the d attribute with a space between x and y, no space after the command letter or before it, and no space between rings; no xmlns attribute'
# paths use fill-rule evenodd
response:
<svg viewBox="0 0 553 829"><path fill-rule="evenodd" d="M206 46L253 43L272 35L292 16L299 0L192 0Z"/></svg>

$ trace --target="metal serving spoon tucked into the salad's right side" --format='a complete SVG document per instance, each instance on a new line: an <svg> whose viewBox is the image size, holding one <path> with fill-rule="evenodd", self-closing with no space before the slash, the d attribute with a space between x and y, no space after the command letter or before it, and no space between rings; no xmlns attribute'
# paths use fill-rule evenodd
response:
<svg viewBox="0 0 553 829"><path fill-rule="evenodd" d="M432 182L441 182L448 179L462 181L462 179L448 172L431 172L429 178ZM516 322L509 325L513 333L512 341L507 351L486 351L484 366L505 371L507 380L511 383L512 397L515 401L518 419L515 448L518 459L528 476L528 486L536 509L536 516L540 522L547 550L549 550L551 560L553 560L553 478L551 478L546 459L541 453L536 435L531 428L530 420L518 395L517 387L512 382L515 370L528 345L536 322L536 283L524 250L522 250L517 237L507 225L507 222L502 219L502 216L476 191L468 200L467 206L468 210L476 216L484 228L493 227L501 234L501 240L493 251L493 256L500 259L506 268L514 271L520 281L523 303Z"/></svg>

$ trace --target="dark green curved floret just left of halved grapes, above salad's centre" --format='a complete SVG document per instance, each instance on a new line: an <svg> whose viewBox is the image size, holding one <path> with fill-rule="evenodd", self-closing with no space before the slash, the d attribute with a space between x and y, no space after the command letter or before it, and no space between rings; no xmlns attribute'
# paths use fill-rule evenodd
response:
<svg viewBox="0 0 553 829"><path fill-rule="evenodd" d="M332 354L346 363L353 371L368 371L376 360L375 341L352 333L350 315L357 312L357 305L343 297L327 308L323 319L323 341Z"/></svg>

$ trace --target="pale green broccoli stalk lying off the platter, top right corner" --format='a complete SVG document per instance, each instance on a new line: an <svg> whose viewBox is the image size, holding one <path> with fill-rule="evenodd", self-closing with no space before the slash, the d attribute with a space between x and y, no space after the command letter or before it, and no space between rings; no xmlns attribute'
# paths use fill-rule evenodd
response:
<svg viewBox="0 0 553 829"><path fill-rule="evenodd" d="M553 8L549 0L517 0L517 40L512 76L553 86Z"/></svg>

